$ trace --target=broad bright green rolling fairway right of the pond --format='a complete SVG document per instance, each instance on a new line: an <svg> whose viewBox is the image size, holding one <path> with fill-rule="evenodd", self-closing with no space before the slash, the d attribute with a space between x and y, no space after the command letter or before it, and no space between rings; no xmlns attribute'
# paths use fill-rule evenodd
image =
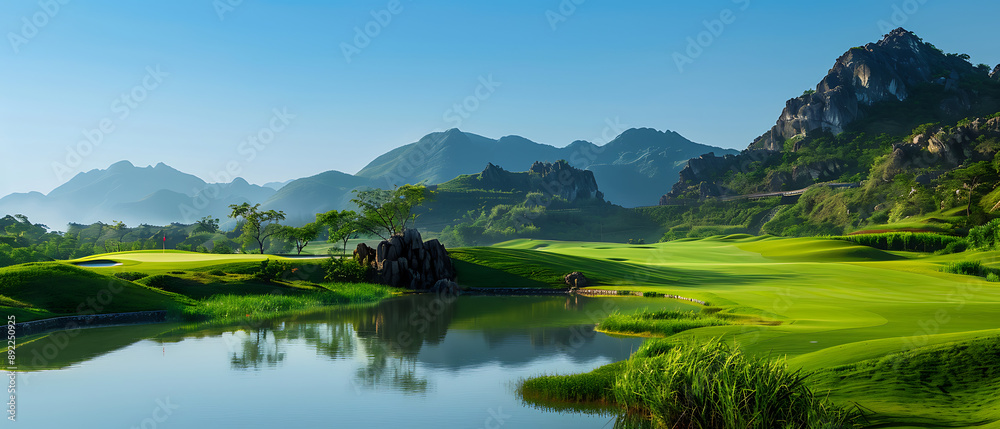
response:
<svg viewBox="0 0 1000 429"><path fill-rule="evenodd" d="M946 370L941 365L907 366L908 371L929 374L898 385L879 373L884 365L871 362L865 363L866 372L843 380L829 375L831 368L851 368L891 353L931 362L915 356L955 354L932 348L960 348L963 341L996 338L1000 283L940 270L948 262L970 259L996 267L997 252L931 256L835 240L747 236L644 246L515 240L461 252L461 258L479 267L516 265L508 273L524 279L549 283L551 276L533 276L533 267L560 273L579 270L599 279L602 288L698 298L740 314L781 321L777 326L698 328L673 338L723 337L750 353L788 356L795 368L825 371L816 375L816 383L831 389L833 399L856 401L879 413L876 419L897 426L962 427L1000 421L995 411L1000 410L1000 394L983 387L1000 383L996 365L980 377L989 380L976 380L975 385L969 384L971 377L932 376ZM515 256L516 263L491 260L506 254ZM460 280L462 275L460 266ZM948 393L953 391L964 396Z"/></svg>

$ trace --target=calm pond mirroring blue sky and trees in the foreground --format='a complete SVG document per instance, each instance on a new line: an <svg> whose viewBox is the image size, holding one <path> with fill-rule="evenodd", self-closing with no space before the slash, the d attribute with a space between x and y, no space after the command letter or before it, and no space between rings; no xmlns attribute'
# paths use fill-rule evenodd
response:
<svg viewBox="0 0 1000 429"><path fill-rule="evenodd" d="M242 326L67 331L22 345L22 427L602 428L523 404L518 380L589 371L641 343L594 332L633 297L393 298Z"/></svg>

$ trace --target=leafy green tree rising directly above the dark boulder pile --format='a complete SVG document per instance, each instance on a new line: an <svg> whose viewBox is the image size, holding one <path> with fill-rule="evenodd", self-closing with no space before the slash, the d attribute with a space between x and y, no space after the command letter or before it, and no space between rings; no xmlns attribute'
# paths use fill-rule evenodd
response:
<svg viewBox="0 0 1000 429"><path fill-rule="evenodd" d="M352 203L361 210L358 229L389 239L406 229L416 219L414 207L427 199L429 191L422 185L403 185L393 189L371 188L355 190Z"/></svg>

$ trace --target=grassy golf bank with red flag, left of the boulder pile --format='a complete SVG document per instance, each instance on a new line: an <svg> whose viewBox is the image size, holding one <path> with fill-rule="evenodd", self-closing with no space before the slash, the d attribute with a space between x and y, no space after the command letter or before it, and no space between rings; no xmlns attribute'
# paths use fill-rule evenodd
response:
<svg viewBox="0 0 1000 429"><path fill-rule="evenodd" d="M279 278L254 276L262 261L289 267ZM121 265L82 267L112 261ZM85 313L170 310L199 318L226 314L270 317L315 305L377 301L375 285L324 280L323 259L272 255L215 255L176 250L118 252L65 262L0 268L0 310L19 322Z"/></svg>

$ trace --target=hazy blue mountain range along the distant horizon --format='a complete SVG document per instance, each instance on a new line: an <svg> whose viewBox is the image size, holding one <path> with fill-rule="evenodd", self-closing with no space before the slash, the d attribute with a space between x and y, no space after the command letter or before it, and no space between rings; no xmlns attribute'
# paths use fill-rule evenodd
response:
<svg viewBox="0 0 1000 429"><path fill-rule="evenodd" d="M0 198L0 213L24 214L63 230L70 222L191 223L208 215L225 220L230 204L259 202L265 209L284 211L289 223L301 224L316 213L350 207L355 189L435 185L478 173L491 163L524 171L535 162L561 159L592 171L607 200L623 206L653 205L689 158L708 152L735 153L649 128L626 130L604 145L575 141L562 148L518 136L494 140L451 129L389 151L356 175L331 170L263 186L242 178L207 183L163 163L138 167L121 161L79 173L47 195Z"/></svg>

